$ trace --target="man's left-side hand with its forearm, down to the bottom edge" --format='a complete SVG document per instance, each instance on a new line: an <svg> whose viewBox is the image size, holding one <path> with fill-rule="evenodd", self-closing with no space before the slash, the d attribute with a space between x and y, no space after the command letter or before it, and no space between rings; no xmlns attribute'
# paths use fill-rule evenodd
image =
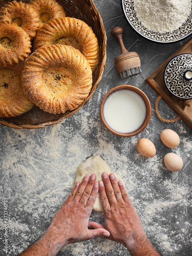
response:
<svg viewBox="0 0 192 256"><path fill-rule="evenodd" d="M66 244L89 240L94 237L108 237L109 231L98 228L88 229L88 222L95 203L99 183L96 175L84 177L76 182L67 201L57 211L46 233L22 256L53 256Z"/></svg>

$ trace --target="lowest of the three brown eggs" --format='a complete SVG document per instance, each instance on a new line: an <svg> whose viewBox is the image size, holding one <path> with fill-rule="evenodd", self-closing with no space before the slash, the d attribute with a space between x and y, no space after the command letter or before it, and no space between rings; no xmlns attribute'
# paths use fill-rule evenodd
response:
<svg viewBox="0 0 192 256"><path fill-rule="evenodd" d="M183 167L183 160L175 153L167 153L164 156L164 163L167 169L172 172L178 172Z"/></svg>

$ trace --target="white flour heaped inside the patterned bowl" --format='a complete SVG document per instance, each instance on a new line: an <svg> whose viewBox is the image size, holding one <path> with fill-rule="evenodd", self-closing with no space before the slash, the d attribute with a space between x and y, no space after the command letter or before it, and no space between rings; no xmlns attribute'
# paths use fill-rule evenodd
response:
<svg viewBox="0 0 192 256"><path fill-rule="evenodd" d="M134 0L134 6L141 25L159 33L179 29L191 11L190 0Z"/></svg>

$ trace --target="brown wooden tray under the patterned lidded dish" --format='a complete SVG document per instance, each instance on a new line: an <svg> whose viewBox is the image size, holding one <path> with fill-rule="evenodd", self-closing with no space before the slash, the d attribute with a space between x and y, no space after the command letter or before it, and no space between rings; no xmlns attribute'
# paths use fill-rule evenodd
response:
<svg viewBox="0 0 192 256"><path fill-rule="evenodd" d="M192 99L189 100L190 106L184 112L185 100L181 100L174 95L171 95L166 90L163 75L167 63L175 56L183 53L192 54L192 37L190 37L183 46L181 46L172 56L170 56L165 62L145 81L150 84L150 86L162 96L162 99L170 106L170 108L181 117L181 119L190 127L192 130Z"/></svg>

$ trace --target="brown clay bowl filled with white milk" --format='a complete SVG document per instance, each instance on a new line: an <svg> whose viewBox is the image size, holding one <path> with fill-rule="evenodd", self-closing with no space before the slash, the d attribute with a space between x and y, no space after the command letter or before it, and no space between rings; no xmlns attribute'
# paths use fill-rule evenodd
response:
<svg viewBox="0 0 192 256"><path fill-rule="evenodd" d="M147 126L151 118L151 104L140 89L118 86L105 94L100 115L110 132L131 137L141 133Z"/></svg>

